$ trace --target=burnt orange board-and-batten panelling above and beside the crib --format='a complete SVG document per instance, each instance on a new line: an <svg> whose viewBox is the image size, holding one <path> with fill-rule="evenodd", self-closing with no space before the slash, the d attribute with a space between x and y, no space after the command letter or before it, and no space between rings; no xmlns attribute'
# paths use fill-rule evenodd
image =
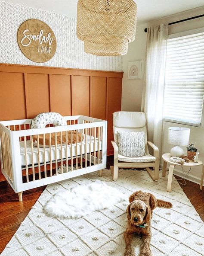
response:
<svg viewBox="0 0 204 256"><path fill-rule="evenodd" d="M121 110L123 72L0 64L0 120L42 112L88 115L108 121L107 154L113 154L112 114Z"/></svg>

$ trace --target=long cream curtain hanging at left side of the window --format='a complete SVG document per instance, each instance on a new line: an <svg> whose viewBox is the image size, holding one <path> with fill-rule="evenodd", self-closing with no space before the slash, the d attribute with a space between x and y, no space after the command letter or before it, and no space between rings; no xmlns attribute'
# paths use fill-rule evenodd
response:
<svg viewBox="0 0 204 256"><path fill-rule="evenodd" d="M141 110L146 113L148 140L161 152L164 77L168 24L148 29Z"/></svg>

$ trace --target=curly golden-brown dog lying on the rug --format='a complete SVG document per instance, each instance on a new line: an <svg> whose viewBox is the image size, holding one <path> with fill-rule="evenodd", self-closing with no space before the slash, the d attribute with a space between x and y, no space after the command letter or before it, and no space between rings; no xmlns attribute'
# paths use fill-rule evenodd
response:
<svg viewBox="0 0 204 256"><path fill-rule="evenodd" d="M126 243L125 256L135 256L131 245L133 235L138 234L142 238L140 256L151 256L151 218L152 211L156 207L172 208L170 202L158 200L154 195L141 190L136 191L129 198L127 206L127 228L124 232Z"/></svg>

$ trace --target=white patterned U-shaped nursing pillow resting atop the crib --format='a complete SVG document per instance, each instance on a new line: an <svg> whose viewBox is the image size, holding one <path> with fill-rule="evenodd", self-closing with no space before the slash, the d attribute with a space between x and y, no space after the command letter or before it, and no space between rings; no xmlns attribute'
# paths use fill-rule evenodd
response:
<svg viewBox="0 0 204 256"><path fill-rule="evenodd" d="M37 115L31 122L31 129L45 128L46 125L52 124L54 126L67 125L66 120L62 115L55 112L46 112Z"/></svg>

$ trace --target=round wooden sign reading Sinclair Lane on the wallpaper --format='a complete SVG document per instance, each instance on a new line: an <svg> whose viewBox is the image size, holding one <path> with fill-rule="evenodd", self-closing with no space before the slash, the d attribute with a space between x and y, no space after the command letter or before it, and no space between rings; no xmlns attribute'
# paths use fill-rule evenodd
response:
<svg viewBox="0 0 204 256"><path fill-rule="evenodd" d="M53 30L39 19L28 19L21 24L17 41L22 53L31 61L46 62L56 52L56 37Z"/></svg>

